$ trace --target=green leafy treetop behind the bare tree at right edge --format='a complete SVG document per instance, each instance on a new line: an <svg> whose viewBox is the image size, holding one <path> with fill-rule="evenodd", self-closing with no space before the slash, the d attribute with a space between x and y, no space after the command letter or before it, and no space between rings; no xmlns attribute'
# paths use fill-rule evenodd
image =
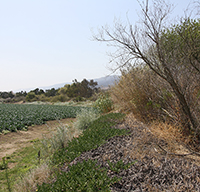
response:
<svg viewBox="0 0 200 192"><path fill-rule="evenodd" d="M191 65L200 73L200 19L185 18L163 30L161 42L166 54L179 65Z"/></svg>

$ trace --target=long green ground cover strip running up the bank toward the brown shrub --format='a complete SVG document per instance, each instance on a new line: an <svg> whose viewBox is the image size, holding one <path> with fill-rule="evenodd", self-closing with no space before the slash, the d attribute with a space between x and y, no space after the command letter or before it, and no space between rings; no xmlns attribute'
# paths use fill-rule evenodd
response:
<svg viewBox="0 0 200 192"><path fill-rule="evenodd" d="M78 138L68 142L67 147L59 149L53 154L53 163L71 162L81 153L95 149L116 135L127 134L127 130L111 128L120 122L125 115L109 113L93 121Z"/></svg>

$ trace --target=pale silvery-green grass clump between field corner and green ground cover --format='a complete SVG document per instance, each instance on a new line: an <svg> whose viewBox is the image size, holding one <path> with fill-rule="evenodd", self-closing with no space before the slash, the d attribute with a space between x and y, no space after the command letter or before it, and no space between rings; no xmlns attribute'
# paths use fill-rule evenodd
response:
<svg viewBox="0 0 200 192"><path fill-rule="evenodd" d="M76 122L74 128L78 130L86 129L91 122L99 118L100 114L94 108L82 108L80 112L77 112Z"/></svg>

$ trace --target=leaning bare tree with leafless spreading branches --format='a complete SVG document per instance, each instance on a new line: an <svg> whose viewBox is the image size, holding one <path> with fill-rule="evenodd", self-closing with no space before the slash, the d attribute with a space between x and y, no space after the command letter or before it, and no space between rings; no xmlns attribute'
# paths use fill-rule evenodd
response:
<svg viewBox="0 0 200 192"><path fill-rule="evenodd" d="M199 80L199 74L191 69L191 65L181 64L180 57L174 54L177 46L166 46L164 31L167 27L168 16L173 6L164 0L154 0L152 6L141 5L142 21L134 27L116 22L113 29L102 27L94 39L107 42L114 46L116 52L112 54L116 62L114 70L124 66L138 64L147 65L158 76L165 80L174 91L182 108L184 125L189 130L198 128L198 118L192 110L188 99L188 92L193 82ZM187 67L185 67L187 65Z"/></svg>

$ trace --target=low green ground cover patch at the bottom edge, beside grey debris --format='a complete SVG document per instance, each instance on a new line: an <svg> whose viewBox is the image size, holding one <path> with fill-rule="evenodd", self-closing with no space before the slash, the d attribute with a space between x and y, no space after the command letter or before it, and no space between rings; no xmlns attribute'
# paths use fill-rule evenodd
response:
<svg viewBox="0 0 200 192"><path fill-rule="evenodd" d="M110 191L111 184L120 178L107 176L107 170L96 165L97 161L83 161L70 167L69 172L59 172L52 185L43 183L39 192L46 191Z"/></svg>

